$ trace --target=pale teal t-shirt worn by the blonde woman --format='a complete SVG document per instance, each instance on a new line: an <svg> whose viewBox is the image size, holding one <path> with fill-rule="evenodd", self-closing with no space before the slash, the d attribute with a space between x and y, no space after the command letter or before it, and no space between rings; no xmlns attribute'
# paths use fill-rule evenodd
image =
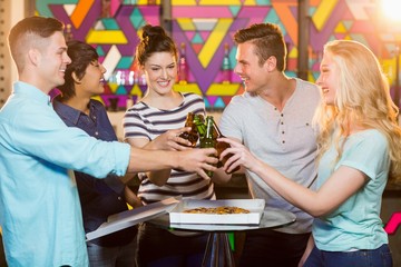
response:
<svg viewBox="0 0 401 267"><path fill-rule="evenodd" d="M388 244L380 219L382 194L387 184L390 158L385 137L378 130L364 130L350 137L341 159L334 147L319 165L317 189L341 166L358 169L368 176L366 184L331 214L315 218L313 237L316 247L326 251L375 249ZM350 178L352 179L352 178Z"/></svg>

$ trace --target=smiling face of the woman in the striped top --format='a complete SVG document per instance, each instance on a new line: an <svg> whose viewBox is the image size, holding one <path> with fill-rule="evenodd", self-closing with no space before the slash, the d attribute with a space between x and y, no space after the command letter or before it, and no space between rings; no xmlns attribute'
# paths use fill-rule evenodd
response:
<svg viewBox="0 0 401 267"><path fill-rule="evenodd" d="M141 67L149 93L172 92L177 78L177 61L170 52L154 52Z"/></svg>

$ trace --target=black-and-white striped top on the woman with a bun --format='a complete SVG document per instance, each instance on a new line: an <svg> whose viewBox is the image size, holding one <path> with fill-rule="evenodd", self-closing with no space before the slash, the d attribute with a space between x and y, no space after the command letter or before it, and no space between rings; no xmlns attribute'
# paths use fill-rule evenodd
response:
<svg viewBox="0 0 401 267"><path fill-rule="evenodd" d="M129 108L124 116L124 137L147 138L154 140L167 130L184 127L188 112L205 115L205 103L195 93L182 93L183 102L170 110L160 110L138 102ZM190 199L215 199L212 180L199 177L196 172L172 170L164 186L154 185L145 172L138 174L140 186L138 197L144 205L163 199L183 196Z"/></svg>

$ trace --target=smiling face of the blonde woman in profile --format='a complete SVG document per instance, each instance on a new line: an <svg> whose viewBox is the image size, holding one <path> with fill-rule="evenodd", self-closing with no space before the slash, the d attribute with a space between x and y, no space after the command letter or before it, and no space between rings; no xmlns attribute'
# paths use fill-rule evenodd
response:
<svg viewBox="0 0 401 267"><path fill-rule="evenodd" d="M323 99L326 105L335 105L335 95L339 86L338 66L333 57L325 52L320 67L321 73L316 80L317 86L321 87Z"/></svg>

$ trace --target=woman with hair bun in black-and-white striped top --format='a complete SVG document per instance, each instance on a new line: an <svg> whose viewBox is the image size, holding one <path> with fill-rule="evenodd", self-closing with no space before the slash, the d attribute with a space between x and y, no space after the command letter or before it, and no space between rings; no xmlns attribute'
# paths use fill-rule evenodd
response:
<svg viewBox="0 0 401 267"><path fill-rule="evenodd" d="M205 115L205 103L196 93L173 90L177 77L177 49L158 26L145 26L136 49L136 60L148 85L144 98L126 111L124 135L131 146L146 149L183 150L189 141L179 138L188 112ZM196 172L176 169L138 174L138 197L144 205L168 197L215 199L214 185ZM138 233L139 266L200 266L207 236L178 236L143 224Z"/></svg>

